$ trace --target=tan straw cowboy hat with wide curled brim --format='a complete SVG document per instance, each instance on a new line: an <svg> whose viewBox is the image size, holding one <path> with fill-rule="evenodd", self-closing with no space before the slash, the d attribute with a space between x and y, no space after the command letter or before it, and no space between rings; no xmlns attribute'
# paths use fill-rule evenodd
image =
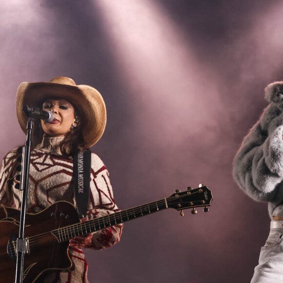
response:
<svg viewBox="0 0 283 283"><path fill-rule="evenodd" d="M83 139L88 147L101 138L106 125L104 100L94 87L76 85L67 77L56 77L49 82L22 82L17 91L16 107L20 127L27 133L27 117L22 111L24 105L41 107L49 98L61 98L71 102L78 110Z"/></svg>

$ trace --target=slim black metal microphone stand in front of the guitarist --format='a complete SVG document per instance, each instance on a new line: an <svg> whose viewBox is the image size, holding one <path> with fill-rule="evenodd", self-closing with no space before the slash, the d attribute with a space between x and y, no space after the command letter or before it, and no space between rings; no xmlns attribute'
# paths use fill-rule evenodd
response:
<svg viewBox="0 0 283 283"><path fill-rule="evenodd" d="M29 252L28 239L24 236L25 228L25 215L26 215L26 203L28 193L28 177L29 177L29 163L30 163L30 147L31 147L31 132L33 128L33 120L28 118L27 121L27 137L26 143L22 151L21 161L21 179L20 179L20 190L22 191L21 196L21 210L20 210L20 229L19 238L17 239L16 252L17 252L17 264L16 264L16 279L15 283L22 283L23 280L23 263L24 255Z"/></svg>

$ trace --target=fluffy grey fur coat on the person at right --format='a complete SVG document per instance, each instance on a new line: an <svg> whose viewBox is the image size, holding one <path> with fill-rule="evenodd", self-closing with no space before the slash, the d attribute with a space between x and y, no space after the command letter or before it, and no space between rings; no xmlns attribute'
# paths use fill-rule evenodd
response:
<svg viewBox="0 0 283 283"><path fill-rule="evenodd" d="M283 81L265 88L269 105L236 154L233 177L247 195L283 217Z"/></svg>

